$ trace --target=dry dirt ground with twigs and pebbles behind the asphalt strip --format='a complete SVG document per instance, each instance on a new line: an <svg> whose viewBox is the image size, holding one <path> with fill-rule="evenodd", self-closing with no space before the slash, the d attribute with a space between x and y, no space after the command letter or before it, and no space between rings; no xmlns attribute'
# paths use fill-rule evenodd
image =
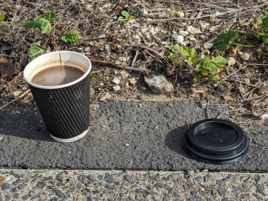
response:
<svg viewBox="0 0 268 201"><path fill-rule="evenodd" d="M234 56L236 63L221 69L221 80L193 82L193 66L183 58L172 61L171 45L178 45L178 34L190 26L200 29L197 35L183 37L182 44L195 48L197 53L224 56L208 44L214 43L222 30L235 28L249 32L253 17L261 18L266 1L3 1L1 10L6 16L6 28L0 32L1 58L11 61L17 73L1 78L1 106L28 90L22 74L30 61L31 43L42 45L47 51L71 50L95 60L91 73L92 102L106 99L160 99L147 87L147 75L165 75L173 85L173 92L164 99L201 98L219 99L229 106L235 118L260 118L267 114L267 94L260 87L267 82L267 52L262 47L240 48L248 61ZM25 20L35 19L46 11L54 11L54 32L42 35L23 28ZM118 23L121 11L127 11L133 20ZM215 16L212 19L212 16ZM79 30L81 39L76 45L65 44L59 38L68 30ZM183 35L183 32L181 34ZM249 38L251 39L251 38ZM254 37L252 37L252 40ZM206 49L207 48L207 49ZM103 63L101 61L106 61ZM1 63L1 66L4 64ZM118 68L119 67L119 68ZM129 71L123 68L129 69ZM135 71L133 71L135 70ZM142 71L142 72L141 72ZM120 82L114 83L114 78ZM133 83L130 83L133 79ZM120 87L118 87L120 86ZM94 92L94 94L93 94ZM106 96L106 98L105 98ZM22 100L22 102L21 102ZM30 93L18 98L20 104L32 104ZM241 120L242 121L242 120ZM245 121L245 120L243 120ZM262 121L264 122L264 121Z"/></svg>

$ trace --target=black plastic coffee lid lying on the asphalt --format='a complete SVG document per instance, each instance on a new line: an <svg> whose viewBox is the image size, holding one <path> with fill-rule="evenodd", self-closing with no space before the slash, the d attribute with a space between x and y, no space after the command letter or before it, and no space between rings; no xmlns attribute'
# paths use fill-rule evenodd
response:
<svg viewBox="0 0 268 201"><path fill-rule="evenodd" d="M223 119L194 123L185 135L184 146L194 159L213 164L238 162L249 147L243 130Z"/></svg>

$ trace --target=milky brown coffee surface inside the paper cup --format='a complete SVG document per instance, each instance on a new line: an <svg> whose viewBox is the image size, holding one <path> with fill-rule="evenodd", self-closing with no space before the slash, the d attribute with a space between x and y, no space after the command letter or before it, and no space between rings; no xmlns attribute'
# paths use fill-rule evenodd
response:
<svg viewBox="0 0 268 201"><path fill-rule="evenodd" d="M81 68L73 66L51 66L33 75L31 82L36 85L56 86L71 83L85 74Z"/></svg>

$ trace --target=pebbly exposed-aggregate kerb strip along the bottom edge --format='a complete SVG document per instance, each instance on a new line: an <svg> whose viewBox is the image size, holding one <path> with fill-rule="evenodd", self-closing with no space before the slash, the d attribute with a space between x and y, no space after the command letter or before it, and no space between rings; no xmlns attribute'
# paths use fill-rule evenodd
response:
<svg viewBox="0 0 268 201"><path fill-rule="evenodd" d="M267 173L0 170L0 200L268 200Z"/></svg>

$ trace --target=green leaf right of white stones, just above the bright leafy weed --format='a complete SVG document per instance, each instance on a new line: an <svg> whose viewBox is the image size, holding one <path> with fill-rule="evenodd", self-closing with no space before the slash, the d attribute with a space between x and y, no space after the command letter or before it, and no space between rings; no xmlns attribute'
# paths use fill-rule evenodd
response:
<svg viewBox="0 0 268 201"><path fill-rule="evenodd" d="M236 30L224 30L223 32L221 32L221 35L219 35L219 38L217 40L217 49L219 51L226 51L226 49L229 49L229 47L234 42L237 36L238 32Z"/></svg>

